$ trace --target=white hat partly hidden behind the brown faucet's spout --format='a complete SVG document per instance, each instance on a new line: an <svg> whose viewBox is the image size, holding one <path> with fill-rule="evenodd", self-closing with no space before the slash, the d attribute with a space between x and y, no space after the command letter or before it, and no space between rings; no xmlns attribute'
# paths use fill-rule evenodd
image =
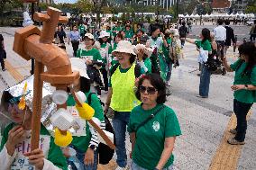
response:
<svg viewBox="0 0 256 170"><path fill-rule="evenodd" d="M72 70L78 71L80 76L90 79L87 75L87 65L82 58L70 58Z"/></svg>

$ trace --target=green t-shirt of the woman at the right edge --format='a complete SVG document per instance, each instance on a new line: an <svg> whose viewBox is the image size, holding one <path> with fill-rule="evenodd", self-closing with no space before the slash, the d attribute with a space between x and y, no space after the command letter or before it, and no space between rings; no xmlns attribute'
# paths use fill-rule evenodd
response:
<svg viewBox="0 0 256 170"><path fill-rule="evenodd" d="M256 85L256 67L254 66L251 71L251 75L243 75L247 63L242 62L242 59L238 59L230 67L235 71L233 85ZM233 93L234 99L241 103L255 103L256 91L252 90L238 90Z"/></svg>

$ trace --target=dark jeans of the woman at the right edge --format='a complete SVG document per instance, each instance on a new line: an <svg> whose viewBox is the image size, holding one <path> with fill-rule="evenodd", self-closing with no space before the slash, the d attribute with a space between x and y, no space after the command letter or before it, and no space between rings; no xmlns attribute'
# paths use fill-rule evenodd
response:
<svg viewBox="0 0 256 170"><path fill-rule="evenodd" d="M237 131L234 139L244 141L247 130L246 115L251 109L252 103L241 103L233 99L233 112L235 113L237 124L235 130Z"/></svg>

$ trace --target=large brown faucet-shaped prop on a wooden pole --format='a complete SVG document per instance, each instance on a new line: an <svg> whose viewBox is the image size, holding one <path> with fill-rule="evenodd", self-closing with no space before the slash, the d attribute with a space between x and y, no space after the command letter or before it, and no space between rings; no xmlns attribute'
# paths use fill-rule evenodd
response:
<svg viewBox="0 0 256 170"><path fill-rule="evenodd" d="M39 147L41 129L41 95L43 81L56 86L57 90L67 91L67 86L79 78L78 72L72 72L69 56L63 49L53 45L54 32L58 23L68 22L60 16L61 11L48 7L47 13L34 13L35 21L43 22L42 30L31 25L15 32L14 51L26 60L35 60L33 101L32 101L32 150ZM47 68L45 71L44 68ZM67 108L67 104L57 108ZM96 124L92 124L100 130ZM61 131L65 134L67 131ZM101 132L100 132L101 133ZM101 133L102 134L102 133ZM103 139L107 140L105 133ZM107 143L108 140L107 140ZM112 143L111 143L112 144ZM111 145L110 146L114 146Z"/></svg>

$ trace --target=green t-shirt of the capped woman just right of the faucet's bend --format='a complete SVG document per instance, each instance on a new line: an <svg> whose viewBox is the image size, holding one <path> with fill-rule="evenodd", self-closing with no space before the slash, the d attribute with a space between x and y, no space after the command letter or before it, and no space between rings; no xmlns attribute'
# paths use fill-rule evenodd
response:
<svg viewBox="0 0 256 170"><path fill-rule="evenodd" d="M100 52L98 49L78 49L77 58L90 58L91 60L100 60L102 61Z"/></svg>

